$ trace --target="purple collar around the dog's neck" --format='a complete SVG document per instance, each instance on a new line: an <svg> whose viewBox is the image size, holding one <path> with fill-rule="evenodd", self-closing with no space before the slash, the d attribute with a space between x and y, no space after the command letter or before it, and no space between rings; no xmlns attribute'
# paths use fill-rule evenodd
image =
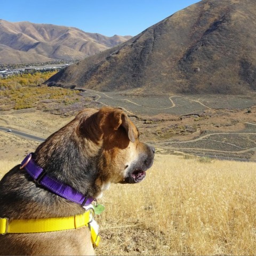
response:
<svg viewBox="0 0 256 256"><path fill-rule="evenodd" d="M46 174L46 172L32 159L32 153L28 154L22 161L20 169L25 168L28 174L39 184L54 194L57 194L63 198L68 199L71 202L84 205L89 205L94 201L92 197L86 197L83 194L76 191L74 188L63 184Z"/></svg>

